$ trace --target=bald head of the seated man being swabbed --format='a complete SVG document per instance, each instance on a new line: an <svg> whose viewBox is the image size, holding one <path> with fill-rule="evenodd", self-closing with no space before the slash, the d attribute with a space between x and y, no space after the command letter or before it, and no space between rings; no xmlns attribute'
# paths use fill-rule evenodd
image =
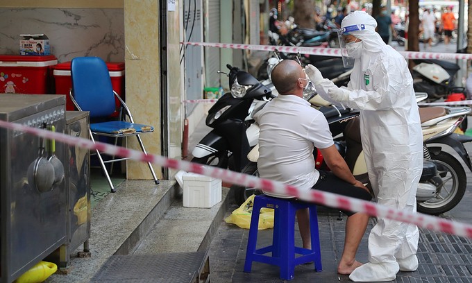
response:
<svg viewBox="0 0 472 283"><path fill-rule="evenodd" d="M298 78L305 78L302 67L294 60L283 60L273 68L271 79L279 94L298 92ZM303 89L302 89L303 90Z"/></svg>

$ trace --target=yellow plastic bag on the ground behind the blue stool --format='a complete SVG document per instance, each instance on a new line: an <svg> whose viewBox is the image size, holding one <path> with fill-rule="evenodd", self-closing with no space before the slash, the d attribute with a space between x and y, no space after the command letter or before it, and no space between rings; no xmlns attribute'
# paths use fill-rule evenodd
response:
<svg viewBox="0 0 472 283"><path fill-rule="evenodd" d="M251 214L253 212L253 203L255 195L248 199L224 221L238 225L240 228L249 229L251 225ZM273 228L273 209L263 207L260 209L258 230Z"/></svg>

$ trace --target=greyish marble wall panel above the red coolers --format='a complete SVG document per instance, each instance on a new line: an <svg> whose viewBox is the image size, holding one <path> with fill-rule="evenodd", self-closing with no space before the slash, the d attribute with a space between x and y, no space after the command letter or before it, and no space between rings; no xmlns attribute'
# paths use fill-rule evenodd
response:
<svg viewBox="0 0 472 283"><path fill-rule="evenodd" d="M59 62L98 56L124 62L124 10L0 8L0 54L19 55L20 34L44 33Z"/></svg>

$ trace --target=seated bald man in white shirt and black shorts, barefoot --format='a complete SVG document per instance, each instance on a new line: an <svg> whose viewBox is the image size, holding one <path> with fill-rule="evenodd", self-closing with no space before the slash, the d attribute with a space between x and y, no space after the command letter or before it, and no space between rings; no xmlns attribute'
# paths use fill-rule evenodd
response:
<svg viewBox="0 0 472 283"><path fill-rule="evenodd" d="M303 89L309 83L303 68L293 60L283 60L273 69L271 78L279 96L254 116L260 126L260 177L294 185L301 190L318 189L371 200L369 189L355 180L339 155L323 113L303 99ZM323 153L330 172L314 168L314 147ZM288 195L264 194L292 198ZM344 213L348 215L346 237L337 272L347 275L362 265L355 260L355 254L369 216L360 212ZM296 216L303 248L311 248L309 211L298 210Z"/></svg>

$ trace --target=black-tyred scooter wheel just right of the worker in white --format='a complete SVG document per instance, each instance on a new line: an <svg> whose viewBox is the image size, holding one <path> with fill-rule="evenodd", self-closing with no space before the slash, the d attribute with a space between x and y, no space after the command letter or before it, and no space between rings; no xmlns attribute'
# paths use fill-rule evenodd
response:
<svg viewBox="0 0 472 283"><path fill-rule="evenodd" d="M417 210L438 215L453 209L462 200L467 178L464 167L453 155L441 151L437 155L431 155L431 158L437 164L438 175L443 183L434 198L418 203Z"/></svg>

